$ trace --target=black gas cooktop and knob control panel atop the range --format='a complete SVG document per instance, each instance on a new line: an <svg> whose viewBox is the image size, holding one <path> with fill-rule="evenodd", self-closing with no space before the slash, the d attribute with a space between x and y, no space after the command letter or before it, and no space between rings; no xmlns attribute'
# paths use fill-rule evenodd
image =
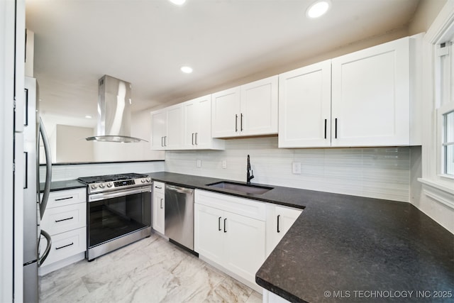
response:
<svg viewBox="0 0 454 303"><path fill-rule="evenodd" d="M101 175L92 177L79 177L78 181L87 184L88 194L110 192L115 189L140 187L151 183L148 175L127 173L118 175Z"/></svg>

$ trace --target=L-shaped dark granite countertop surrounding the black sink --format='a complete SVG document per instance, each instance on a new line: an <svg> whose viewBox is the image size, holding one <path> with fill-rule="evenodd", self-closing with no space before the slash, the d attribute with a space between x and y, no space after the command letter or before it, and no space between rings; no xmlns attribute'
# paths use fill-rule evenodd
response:
<svg viewBox="0 0 454 303"><path fill-rule="evenodd" d="M289 187L241 194L206 187L219 179L149 175L304 208L256 275L258 285L291 302L454 301L454 235L409 203Z"/></svg>

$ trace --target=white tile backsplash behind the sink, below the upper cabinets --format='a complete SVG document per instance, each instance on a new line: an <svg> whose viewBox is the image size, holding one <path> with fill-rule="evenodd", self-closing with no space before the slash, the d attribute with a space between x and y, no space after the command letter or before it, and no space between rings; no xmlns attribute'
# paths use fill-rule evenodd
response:
<svg viewBox="0 0 454 303"><path fill-rule="evenodd" d="M253 183L409 202L406 147L282 149L277 137L232 139L221 151L167 151L165 171L245 182L247 155ZM300 175L292 173L292 162L301 163Z"/></svg>

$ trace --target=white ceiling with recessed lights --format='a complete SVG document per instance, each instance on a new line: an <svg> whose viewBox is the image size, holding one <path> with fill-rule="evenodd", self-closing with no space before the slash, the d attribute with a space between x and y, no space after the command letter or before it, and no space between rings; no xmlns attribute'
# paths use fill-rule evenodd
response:
<svg viewBox="0 0 454 303"><path fill-rule="evenodd" d="M40 108L96 115L97 80L133 84L133 111L216 92L321 51L405 27L419 0L26 0ZM190 65L191 75L179 67Z"/></svg>

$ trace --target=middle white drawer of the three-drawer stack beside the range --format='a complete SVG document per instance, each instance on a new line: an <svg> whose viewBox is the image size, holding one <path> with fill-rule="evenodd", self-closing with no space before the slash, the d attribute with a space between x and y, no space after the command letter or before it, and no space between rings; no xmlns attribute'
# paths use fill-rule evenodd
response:
<svg viewBox="0 0 454 303"><path fill-rule="evenodd" d="M46 209L41 228L51 236L87 225L87 204L78 203Z"/></svg>

